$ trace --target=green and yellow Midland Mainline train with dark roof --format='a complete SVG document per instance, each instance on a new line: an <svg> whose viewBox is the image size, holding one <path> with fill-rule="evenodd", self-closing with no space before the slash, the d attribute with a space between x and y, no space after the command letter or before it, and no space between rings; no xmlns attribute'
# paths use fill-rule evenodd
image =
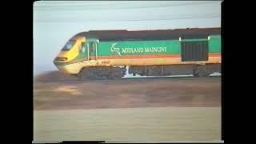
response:
<svg viewBox="0 0 256 144"><path fill-rule="evenodd" d="M75 34L54 65L79 80L221 73L221 28L90 30Z"/></svg>

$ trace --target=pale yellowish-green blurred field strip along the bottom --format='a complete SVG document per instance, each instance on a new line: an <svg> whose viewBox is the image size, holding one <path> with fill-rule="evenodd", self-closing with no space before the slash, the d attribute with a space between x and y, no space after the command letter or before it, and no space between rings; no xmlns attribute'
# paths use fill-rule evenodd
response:
<svg viewBox="0 0 256 144"><path fill-rule="evenodd" d="M34 141L218 141L221 107L34 111Z"/></svg>

